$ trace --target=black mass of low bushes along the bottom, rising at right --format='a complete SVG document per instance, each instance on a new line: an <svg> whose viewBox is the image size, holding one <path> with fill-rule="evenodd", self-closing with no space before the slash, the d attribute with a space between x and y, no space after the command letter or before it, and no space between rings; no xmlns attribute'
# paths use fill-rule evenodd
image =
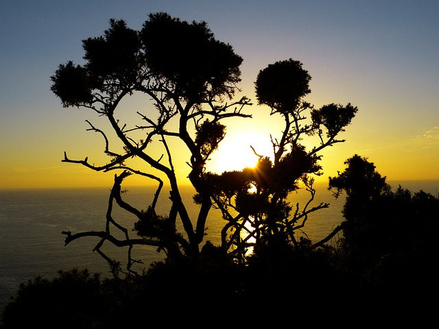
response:
<svg viewBox="0 0 439 329"><path fill-rule="evenodd" d="M355 161L371 165L354 157L351 169ZM392 192L372 173L381 184L367 187L370 175L348 170L331 180L347 193L344 236L336 246L268 243L244 265L206 243L197 266L154 263L143 275L124 278L86 269L60 271L51 280L37 276L5 307L1 328L147 328L184 324L194 314L208 328L274 325L293 316L296 323L316 316L420 324L436 314L439 199L401 187Z"/></svg>

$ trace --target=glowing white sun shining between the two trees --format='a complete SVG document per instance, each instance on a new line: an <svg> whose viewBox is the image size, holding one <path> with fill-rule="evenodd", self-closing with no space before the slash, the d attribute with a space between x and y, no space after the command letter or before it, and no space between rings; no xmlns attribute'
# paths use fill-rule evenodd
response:
<svg viewBox="0 0 439 329"><path fill-rule="evenodd" d="M211 159L206 162L206 170L213 173L223 173L224 171L240 171L246 167L254 167L259 159L255 152L261 156L272 156L270 136L258 132L226 135Z"/></svg>

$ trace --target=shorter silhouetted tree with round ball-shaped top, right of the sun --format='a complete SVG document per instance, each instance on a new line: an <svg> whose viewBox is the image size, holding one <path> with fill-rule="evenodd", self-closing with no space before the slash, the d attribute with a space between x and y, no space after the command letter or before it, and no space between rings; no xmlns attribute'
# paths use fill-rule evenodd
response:
<svg viewBox="0 0 439 329"><path fill-rule="evenodd" d="M318 163L320 151L344 142L337 139L337 135L357 113L357 108L350 103L313 108L304 100L311 92L310 80L308 71L297 60L275 62L261 70L255 82L258 103L268 106L271 115L281 115L285 122L281 137L271 139L272 160L268 154L258 154L258 145L254 145L254 153L259 156L254 169L204 175L213 186L215 206L228 221L222 231L222 247L237 260L244 260L249 247L253 247L254 254L270 250L270 257L281 256L292 246L296 249L317 247L340 230L336 228L314 245L300 244L295 236L311 212L329 206L325 203L311 206L316 191L310 175L322 174ZM318 136L320 143L307 149L302 145L305 136ZM300 181L310 193L309 202L302 209L298 204L293 208L287 202L291 193L298 190Z"/></svg>

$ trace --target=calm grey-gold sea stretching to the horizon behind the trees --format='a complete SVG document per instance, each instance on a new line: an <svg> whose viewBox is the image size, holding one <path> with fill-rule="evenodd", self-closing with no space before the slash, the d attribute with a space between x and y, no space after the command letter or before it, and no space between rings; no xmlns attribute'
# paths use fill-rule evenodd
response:
<svg viewBox="0 0 439 329"><path fill-rule="evenodd" d="M410 191L423 191L437 195L439 181L412 181L401 184ZM316 198L311 206L328 202L329 208L315 212L305 226L309 239L318 241L326 236L342 221L344 197L335 199L327 191L327 184L316 184ZM108 204L109 188L69 188L69 189L32 189L0 190L0 310L8 302L11 294L16 293L19 283L40 274L54 278L59 269L73 267L97 271L110 276L108 264L96 252L92 252L98 239L83 238L64 247L63 230L80 232L85 230L104 230ZM193 190L182 190L189 214L198 213L198 206L191 202ZM154 195L153 187L131 187L124 195L127 202L145 209ZM158 212L166 214L169 209L167 190L162 191L158 203ZM293 194L292 204L301 206L307 200L307 193ZM132 228L134 217L115 207L114 218L119 223ZM212 211L206 226L206 240L219 245L219 232L224 225L221 215ZM113 231L115 232L115 231ZM130 232L135 236L134 232ZM104 251L110 258L124 260L126 249L104 245ZM137 247L133 258L142 259L144 265L153 260L163 259L163 253L155 247Z"/></svg>

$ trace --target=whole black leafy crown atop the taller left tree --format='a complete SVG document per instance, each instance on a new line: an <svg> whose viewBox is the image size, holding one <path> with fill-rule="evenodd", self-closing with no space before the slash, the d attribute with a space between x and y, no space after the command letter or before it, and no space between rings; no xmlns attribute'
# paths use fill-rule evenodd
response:
<svg viewBox="0 0 439 329"><path fill-rule="evenodd" d="M91 103L94 88L116 97L145 91L145 86L151 93L171 92L199 103L232 97L241 81L242 58L233 47L216 40L205 22L188 23L165 13L150 14L141 31L111 19L104 36L83 40L83 47L84 66L68 62L51 77L51 90L64 106Z"/></svg>

